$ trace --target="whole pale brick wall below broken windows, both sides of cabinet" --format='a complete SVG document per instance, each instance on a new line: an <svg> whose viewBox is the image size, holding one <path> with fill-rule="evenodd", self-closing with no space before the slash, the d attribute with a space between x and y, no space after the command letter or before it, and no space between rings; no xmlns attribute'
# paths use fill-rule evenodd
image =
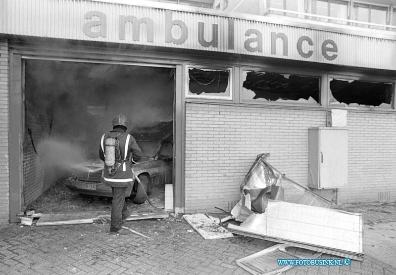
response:
<svg viewBox="0 0 396 275"><path fill-rule="evenodd" d="M187 103L186 213L238 201L259 153L269 152L270 164L307 185L308 128L324 126L324 110ZM338 201L377 200L380 191L395 198L395 115L348 112L348 130L348 186Z"/></svg>

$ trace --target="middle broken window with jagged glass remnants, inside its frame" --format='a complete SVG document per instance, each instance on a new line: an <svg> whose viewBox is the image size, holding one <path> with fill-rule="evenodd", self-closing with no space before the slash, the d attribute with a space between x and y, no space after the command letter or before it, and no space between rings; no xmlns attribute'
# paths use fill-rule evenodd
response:
<svg viewBox="0 0 396 275"><path fill-rule="evenodd" d="M319 104L319 77L244 71L243 100Z"/></svg>

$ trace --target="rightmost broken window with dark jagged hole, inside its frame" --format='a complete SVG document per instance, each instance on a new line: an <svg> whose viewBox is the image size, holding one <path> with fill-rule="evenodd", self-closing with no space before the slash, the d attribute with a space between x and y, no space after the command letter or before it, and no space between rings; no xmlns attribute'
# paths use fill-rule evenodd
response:
<svg viewBox="0 0 396 275"><path fill-rule="evenodd" d="M358 80L330 80L330 104L392 108L393 84Z"/></svg>

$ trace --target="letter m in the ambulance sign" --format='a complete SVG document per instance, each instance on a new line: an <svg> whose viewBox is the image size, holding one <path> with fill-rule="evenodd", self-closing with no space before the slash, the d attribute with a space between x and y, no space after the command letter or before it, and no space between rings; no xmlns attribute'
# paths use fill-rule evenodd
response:
<svg viewBox="0 0 396 275"><path fill-rule="evenodd" d="M138 19L136 16L123 16L120 15L120 23L119 23L119 34L118 38L120 40L125 39L125 24L127 22L131 22L133 25L132 29L132 40L139 41L140 40L140 24L145 23L147 26L147 42L154 42L154 21L151 18L143 17L142 19Z"/></svg>

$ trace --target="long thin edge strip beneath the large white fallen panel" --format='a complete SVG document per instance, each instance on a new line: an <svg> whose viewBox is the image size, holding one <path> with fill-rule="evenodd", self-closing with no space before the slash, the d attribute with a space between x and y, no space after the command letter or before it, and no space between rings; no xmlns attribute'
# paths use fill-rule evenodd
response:
<svg viewBox="0 0 396 275"><path fill-rule="evenodd" d="M349 258L349 259L357 260L357 261L363 261L362 254L350 253L348 251L334 250L334 249L330 249L330 248L327 248L327 247L310 245L308 243L299 243L299 242L292 241L292 240L285 240L285 239L281 239L281 238L275 238L275 237L268 236L268 235L254 233L250 229L243 228L241 226L236 226L236 225L233 225L233 224L228 224L227 229L228 229L228 231L230 231L230 232L232 232L234 234L238 234L238 235L243 235L243 236L247 236L247 237L263 239L263 240L268 240L268 241L273 241L273 242L278 242L278 243L289 244L289 245L292 245L292 246L305 248L305 249L309 249L309 250L312 250L312 251L317 251L317 252L320 252L320 253L336 255L336 256L340 256L340 257L343 257L343 258Z"/></svg>

